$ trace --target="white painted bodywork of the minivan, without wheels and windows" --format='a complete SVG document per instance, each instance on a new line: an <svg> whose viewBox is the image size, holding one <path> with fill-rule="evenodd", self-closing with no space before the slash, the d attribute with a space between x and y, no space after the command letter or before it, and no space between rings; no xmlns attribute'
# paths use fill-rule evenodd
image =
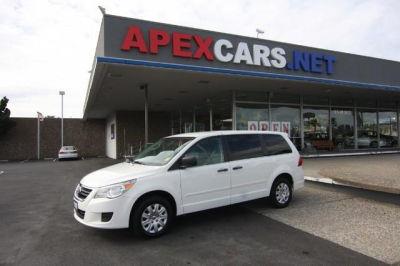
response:
<svg viewBox="0 0 400 266"><path fill-rule="evenodd" d="M280 136L290 149L282 154L262 154L244 159L232 159L232 156L226 155L225 138L229 138L229 141L238 138L240 141L240 138L256 139L255 136L259 139L263 136ZM219 143L225 143L222 154L210 155L216 156L213 160L218 163L179 167L179 160L183 160L182 156L190 152L196 143L214 141L211 139L213 137ZM291 191L304 185L302 159L285 133L214 131L185 133L168 138L187 138L189 141L164 165L145 165L145 161L139 160L123 162L82 178L74 194L75 219L96 228L128 228L135 203L154 193L170 201L175 216L268 197L274 180L280 176L290 181ZM238 158L241 158L240 151L238 154ZM114 184L117 187L107 190ZM121 193L119 189L125 192L114 198L114 195Z"/></svg>

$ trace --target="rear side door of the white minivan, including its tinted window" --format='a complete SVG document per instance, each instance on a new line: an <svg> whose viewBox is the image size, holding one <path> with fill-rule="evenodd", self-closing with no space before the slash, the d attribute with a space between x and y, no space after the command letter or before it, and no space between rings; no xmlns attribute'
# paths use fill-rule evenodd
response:
<svg viewBox="0 0 400 266"><path fill-rule="evenodd" d="M226 135L231 172L231 203L267 196L273 158L265 156L259 134Z"/></svg>

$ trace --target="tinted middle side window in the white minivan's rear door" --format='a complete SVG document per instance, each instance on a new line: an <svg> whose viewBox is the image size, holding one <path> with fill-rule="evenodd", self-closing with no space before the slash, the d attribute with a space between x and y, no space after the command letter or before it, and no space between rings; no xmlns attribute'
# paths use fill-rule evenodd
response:
<svg viewBox="0 0 400 266"><path fill-rule="evenodd" d="M227 135L226 140L232 161L264 156L259 135Z"/></svg>

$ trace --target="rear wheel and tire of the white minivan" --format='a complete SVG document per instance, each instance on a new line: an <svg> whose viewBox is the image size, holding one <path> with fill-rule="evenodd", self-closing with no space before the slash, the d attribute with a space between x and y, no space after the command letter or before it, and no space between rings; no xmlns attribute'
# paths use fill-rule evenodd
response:
<svg viewBox="0 0 400 266"><path fill-rule="evenodd" d="M285 208L289 205L293 196L293 188L286 177L275 179L271 187L269 199L275 208Z"/></svg>

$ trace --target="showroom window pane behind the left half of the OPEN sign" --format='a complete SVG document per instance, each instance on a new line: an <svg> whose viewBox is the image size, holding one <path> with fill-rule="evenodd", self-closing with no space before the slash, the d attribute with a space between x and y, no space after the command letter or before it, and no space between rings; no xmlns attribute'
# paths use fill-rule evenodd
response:
<svg viewBox="0 0 400 266"><path fill-rule="evenodd" d="M237 130L262 130L268 121L268 105L236 104Z"/></svg>

